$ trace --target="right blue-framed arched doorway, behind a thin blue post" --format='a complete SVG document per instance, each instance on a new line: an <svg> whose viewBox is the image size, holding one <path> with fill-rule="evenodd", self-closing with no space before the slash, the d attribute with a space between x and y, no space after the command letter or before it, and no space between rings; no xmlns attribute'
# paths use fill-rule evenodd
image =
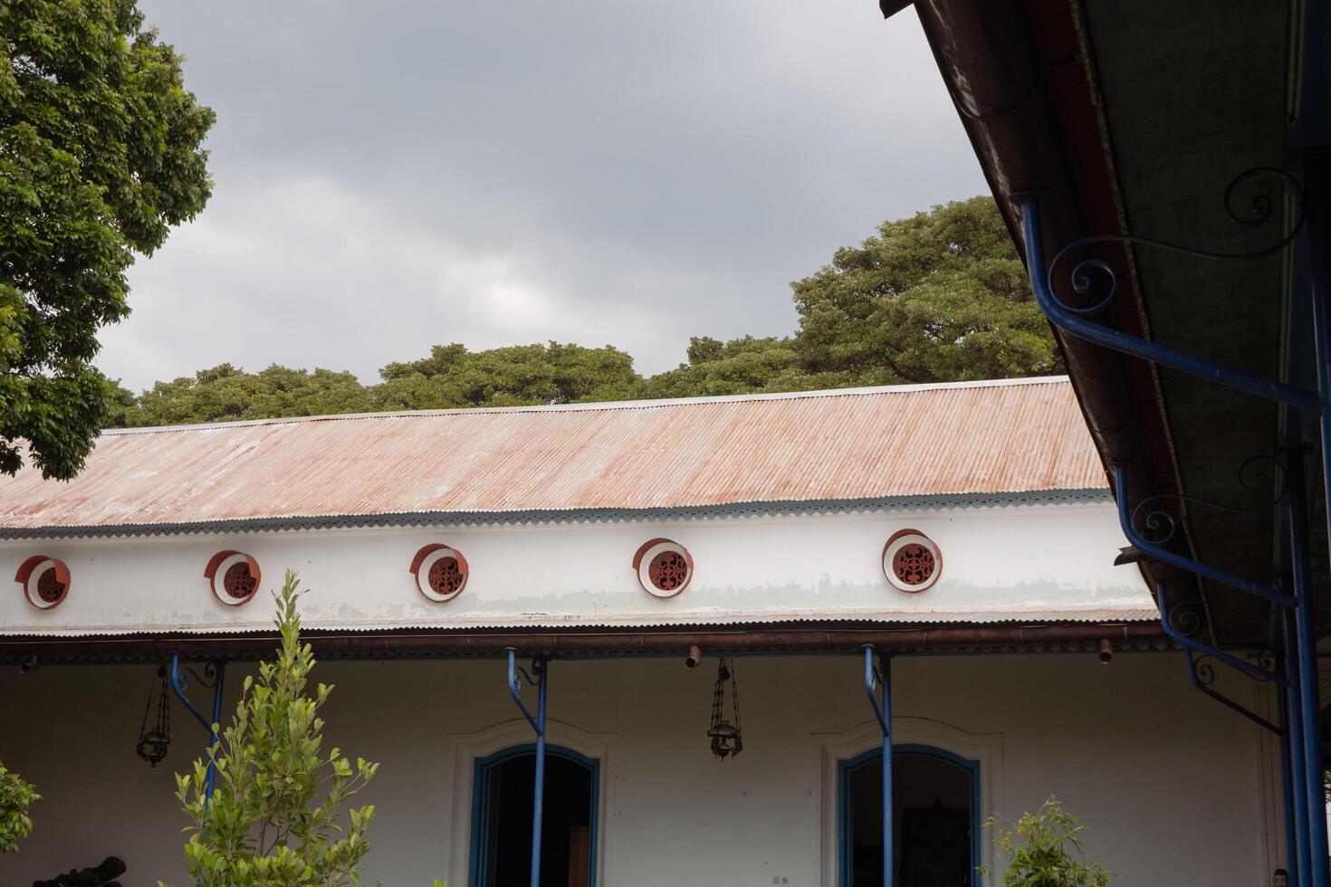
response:
<svg viewBox="0 0 1331 887"><path fill-rule="evenodd" d="M970 887L980 864L978 770L930 746L892 749L892 846L897 887ZM841 887L882 884L882 751L841 761L837 831Z"/></svg>

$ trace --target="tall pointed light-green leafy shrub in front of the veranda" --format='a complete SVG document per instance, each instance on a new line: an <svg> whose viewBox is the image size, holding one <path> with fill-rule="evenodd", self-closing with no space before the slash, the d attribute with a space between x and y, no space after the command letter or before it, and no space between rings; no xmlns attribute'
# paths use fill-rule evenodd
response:
<svg viewBox="0 0 1331 887"><path fill-rule="evenodd" d="M357 887L357 866L369 851L374 806L343 807L379 765L355 763L323 746L318 711L333 693L307 694L314 656L299 638L301 592L287 570L277 597L281 648L276 662L245 678L232 725L210 750L217 789L209 802L208 765L177 775L185 828L185 867L200 887Z"/></svg>

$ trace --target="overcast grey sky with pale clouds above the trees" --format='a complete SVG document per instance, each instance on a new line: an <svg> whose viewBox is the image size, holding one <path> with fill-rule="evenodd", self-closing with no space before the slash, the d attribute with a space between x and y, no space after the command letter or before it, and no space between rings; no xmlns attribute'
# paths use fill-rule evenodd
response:
<svg viewBox="0 0 1331 887"><path fill-rule="evenodd" d="M789 282L985 189L920 25L874 0L140 0L217 112L208 209L101 368L371 380L431 344L795 328Z"/></svg>

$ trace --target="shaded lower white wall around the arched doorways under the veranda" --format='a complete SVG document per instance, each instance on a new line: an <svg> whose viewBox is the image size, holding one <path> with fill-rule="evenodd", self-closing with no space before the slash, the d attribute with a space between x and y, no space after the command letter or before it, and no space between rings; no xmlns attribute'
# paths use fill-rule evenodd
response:
<svg viewBox="0 0 1331 887"><path fill-rule="evenodd" d="M337 685L329 742L382 762L365 794L379 811L367 883L466 883L450 846L461 799L447 750L514 718L503 670L498 660L317 668ZM204 737L177 705L165 763L134 757L152 672L0 673L0 759L45 795L33 836L0 858L0 884L117 854L128 887L185 886L172 770ZM612 747L598 883L821 884L819 737L869 719L862 672L858 657L741 658L745 749L719 762L705 737L715 660L696 670L664 658L556 661L550 717ZM1178 654L1121 653L1110 666L1091 654L900 658L893 681L897 715L1001 739L1004 806L993 813L1014 818L1058 793L1115 883L1268 883L1256 729L1193 690Z"/></svg>

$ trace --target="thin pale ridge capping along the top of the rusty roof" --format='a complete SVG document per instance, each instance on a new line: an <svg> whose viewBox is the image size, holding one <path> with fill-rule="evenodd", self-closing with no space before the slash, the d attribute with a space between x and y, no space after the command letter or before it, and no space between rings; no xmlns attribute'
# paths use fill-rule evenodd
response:
<svg viewBox="0 0 1331 887"><path fill-rule="evenodd" d="M757 400L799 400L804 398L851 398L866 395L910 394L914 391L942 391L949 388L1000 388L1028 384L1067 384L1066 375L1028 376L1021 379L974 379L966 382L928 382L896 386L865 386L856 388L817 388L813 391L772 391L752 394L709 395L700 398L658 398L643 400L604 400L591 403L527 404L516 407L455 407L449 410L387 410L383 412L334 412L318 416L281 416L272 419L240 419L234 422L198 422L180 426L144 426L138 428L104 428L104 435L146 435L213 428L244 428L249 426L282 426L305 422L342 422L351 419L402 419L414 416L494 415L508 412L595 412L614 410L656 410L662 407L695 407L715 403L749 403Z"/></svg>

